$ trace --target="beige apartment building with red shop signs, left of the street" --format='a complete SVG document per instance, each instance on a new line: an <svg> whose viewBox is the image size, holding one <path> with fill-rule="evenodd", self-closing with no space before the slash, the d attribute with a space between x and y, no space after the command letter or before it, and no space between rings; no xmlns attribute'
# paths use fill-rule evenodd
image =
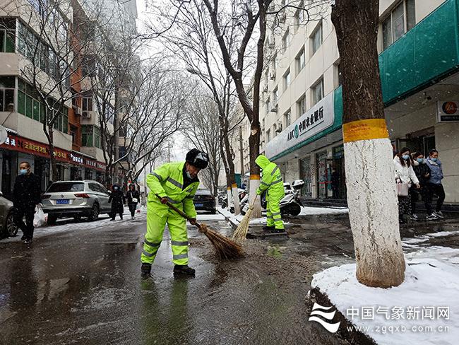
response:
<svg viewBox="0 0 459 345"><path fill-rule="evenodd" d="M136 13L135 2L127 4ZM58 112L53 144L59 180L105 181L93 90L82 78L84 64L75 58L83 51L78 49L80 37L70 29L83 18L74 17L74 9L79 15L87 11L77 0L59 4L7 0L0 6L0 121L8 131L8 139L0 145L0 185L6 197L11 197L22 161L28 161L41 177L42 189L52 177L42 123L47 110L40 93L47 94L47 103L55 104ZM56 33L56 39L44 40L43 30ZM61 88L56 87L59 84ZM112 117L113 109L107 107L107 119ZM107 131L113 134L113 124L108 122Z"/></svg>

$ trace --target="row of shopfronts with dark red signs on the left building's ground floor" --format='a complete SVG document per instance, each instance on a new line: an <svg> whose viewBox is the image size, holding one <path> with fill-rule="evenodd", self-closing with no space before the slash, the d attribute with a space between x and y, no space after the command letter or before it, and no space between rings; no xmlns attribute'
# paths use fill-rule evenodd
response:
<svg viewBox="0 0 459 345"><path fill-rule="evenodd" d="M58 180L83 180L90 176L95 180L103 175L105 164L88 156L54 148ZM42 190L46 190L52 180L49 160L49 146L15 134L9 134L5 143L0 145L1 192L8 199L12 198L13 186L21 162L28 162L35 175L40 177Z"/></svg>

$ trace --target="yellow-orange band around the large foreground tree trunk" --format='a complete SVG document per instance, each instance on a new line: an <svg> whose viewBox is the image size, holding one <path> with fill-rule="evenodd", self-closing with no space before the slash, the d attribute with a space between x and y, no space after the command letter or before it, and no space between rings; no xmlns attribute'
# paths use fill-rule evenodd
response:
<svg viewBox="0 0 459 345"><path fill-rule="evenodd" d="M345 143L359 140L386 139L389 137L385 119L361 119L342 125Z"/></svg>

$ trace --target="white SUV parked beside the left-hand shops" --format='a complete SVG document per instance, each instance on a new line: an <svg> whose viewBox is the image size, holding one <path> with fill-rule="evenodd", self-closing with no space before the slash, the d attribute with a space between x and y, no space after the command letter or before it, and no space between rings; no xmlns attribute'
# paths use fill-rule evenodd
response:
<svg viewBox="0 0 459 345"><path fill-rule="evenodd" d="M48 214L48 224L57 218L73 216L76 220L88 217L97 220L99 214L109 214L109 192L99 182L59 181L54 182L43 194L43 212Z"/></svg>

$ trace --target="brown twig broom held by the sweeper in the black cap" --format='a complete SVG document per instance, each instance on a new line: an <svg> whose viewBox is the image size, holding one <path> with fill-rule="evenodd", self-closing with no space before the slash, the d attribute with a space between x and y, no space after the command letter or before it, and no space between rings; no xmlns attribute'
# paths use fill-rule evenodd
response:
<svg viewBox="0 0 459 345"><path fill-rule="evenodd" d="M156 194L156 196L161 199L158 194ZM177 214L184 217L187 221L191 221L191 218L187 216L184 211L177 209L177 207L172 205L169 201L166 205L169 206L169 209L176 211ZM234 242L224 235L208 228L205 224L199 224L196 222L195 226L199 229L200 233L203 233L210 242L212 242L218 259L234 259L244 256L244 252L242 251L242 247L239 243Z"/></svg>

